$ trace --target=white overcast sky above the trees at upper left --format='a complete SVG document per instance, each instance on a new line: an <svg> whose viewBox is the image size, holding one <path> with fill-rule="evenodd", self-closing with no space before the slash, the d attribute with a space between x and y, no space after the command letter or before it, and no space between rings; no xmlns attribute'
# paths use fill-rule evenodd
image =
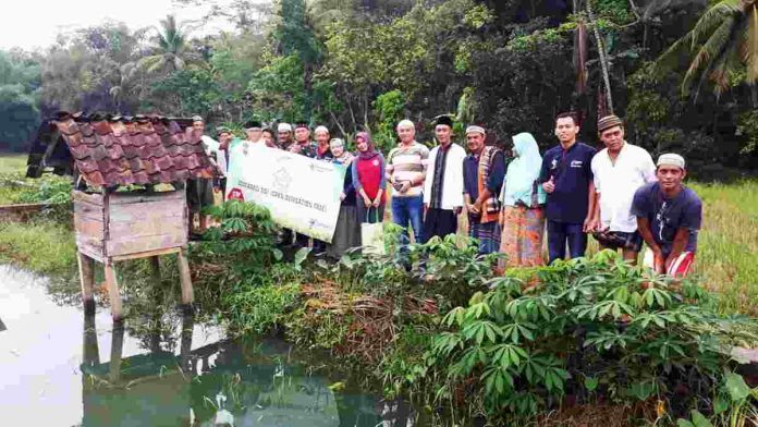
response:
<svg viewBox="0 0 758 427"><path fill-rule="evenodd" d="M268 2L270 0L259 0ZM232 0L216 0L227 4ZM99 25L108 20L124 22L136 29L154 26L167 14L174 14L180 22L198 20L208 11L208 5L186 7L172 0L75 0L53 2L50 0L8 1L0 13L0 49L21 47L35 50L48 47L60 33ZM215 22L199 33L216 33L223 23ZM195 32L193 32L195 33Z"/></svg>

